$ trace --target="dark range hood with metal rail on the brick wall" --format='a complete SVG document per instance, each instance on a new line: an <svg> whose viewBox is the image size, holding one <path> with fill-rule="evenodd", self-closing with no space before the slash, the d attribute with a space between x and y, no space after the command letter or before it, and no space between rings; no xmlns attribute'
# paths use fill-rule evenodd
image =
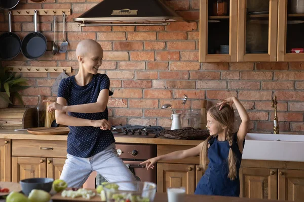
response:
<svg viewBox="0 0 304 202"><path fill-rule="evenodd" d="M78 18L79 26L168 25L182 21L160 0L103 0Z"/></svg>

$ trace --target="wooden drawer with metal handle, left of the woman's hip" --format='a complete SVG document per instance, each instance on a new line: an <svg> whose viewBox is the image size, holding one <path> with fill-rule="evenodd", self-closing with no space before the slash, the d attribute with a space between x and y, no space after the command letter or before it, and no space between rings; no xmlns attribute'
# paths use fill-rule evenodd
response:
<svg viewBox="0 0 304 202"><path fill-rule="evenodd" d="M66 158L66 141L14 139L12 156Z"/></svg>

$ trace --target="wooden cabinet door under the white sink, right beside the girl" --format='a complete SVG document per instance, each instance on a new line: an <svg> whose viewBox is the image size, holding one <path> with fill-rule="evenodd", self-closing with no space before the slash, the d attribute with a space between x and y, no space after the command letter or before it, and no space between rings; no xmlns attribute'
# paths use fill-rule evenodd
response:
<svg viewBox="0 0 304 202"><path fill-rule="evenodd" d="M240 168L240 197L277 199L277 170Z"/></svg>

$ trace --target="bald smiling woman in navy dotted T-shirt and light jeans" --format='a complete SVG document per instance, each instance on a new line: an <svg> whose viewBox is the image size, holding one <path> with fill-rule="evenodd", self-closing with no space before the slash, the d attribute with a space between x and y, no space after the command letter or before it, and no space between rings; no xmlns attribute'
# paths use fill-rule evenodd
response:
<svg viewBox="0 0 304 202"><path fill-rule="evenodd" d="M45 100L51 103L47 110L55 111L56 122L70 129L60 179L68 187L80 188L92 171L97 171L108 182L134 181L134 175L118 157L110 131L110 80L106 74L98 73L102 47L95 40L82 40L77 45L76 57L78 74L61 80L56 102Z"/></svg>

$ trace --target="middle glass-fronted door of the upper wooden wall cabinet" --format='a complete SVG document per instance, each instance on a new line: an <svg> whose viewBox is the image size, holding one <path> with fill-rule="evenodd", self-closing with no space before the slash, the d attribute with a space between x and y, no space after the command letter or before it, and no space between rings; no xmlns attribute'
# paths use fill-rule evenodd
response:
<svg viewBox="0 0 304 202"><path fill-rule="evenodd" d="M278 0L238 1L238 61L277 61Z"/></svg>

